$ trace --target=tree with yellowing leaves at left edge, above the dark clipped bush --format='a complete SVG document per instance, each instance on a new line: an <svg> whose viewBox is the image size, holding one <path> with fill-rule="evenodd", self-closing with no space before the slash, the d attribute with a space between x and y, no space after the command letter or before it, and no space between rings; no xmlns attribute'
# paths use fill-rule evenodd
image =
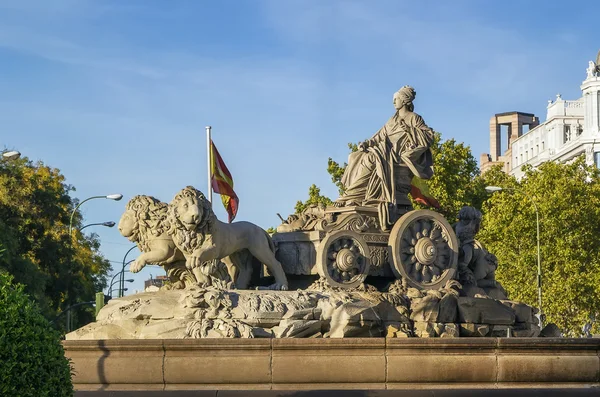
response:
<svg viewBox="0 0 600 397"><path fill-rule="evenodd" d="M49 319L74 303L92 301L110 269L95 236L78 230L69 235L73 190L58 169L41 162L0 161L0 245L5 249L0 271L25 285ZM80 226L79 212L74 221ZM93 319L84 310L78 315Z"/></svg>

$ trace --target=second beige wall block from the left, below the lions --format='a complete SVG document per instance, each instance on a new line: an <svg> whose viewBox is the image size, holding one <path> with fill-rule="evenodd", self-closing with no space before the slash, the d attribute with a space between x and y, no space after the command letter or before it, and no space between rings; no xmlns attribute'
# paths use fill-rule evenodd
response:
<svg viewBox="0 0 600 397"><path fill-rule="evenodd" d="M271 382L270 339L182 339L164 345L165 382L178 389Z"/></svg>

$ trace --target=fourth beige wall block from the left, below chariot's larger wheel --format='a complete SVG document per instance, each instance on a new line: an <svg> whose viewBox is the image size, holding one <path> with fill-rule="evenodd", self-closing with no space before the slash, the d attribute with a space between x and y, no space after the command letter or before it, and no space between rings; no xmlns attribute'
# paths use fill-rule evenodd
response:
<svg viewBox="0 0 600 397"><path fill-rule="evenodd" d="M495 382L495 349L488 338L387 339L387 381L394 388Z"/></svg>

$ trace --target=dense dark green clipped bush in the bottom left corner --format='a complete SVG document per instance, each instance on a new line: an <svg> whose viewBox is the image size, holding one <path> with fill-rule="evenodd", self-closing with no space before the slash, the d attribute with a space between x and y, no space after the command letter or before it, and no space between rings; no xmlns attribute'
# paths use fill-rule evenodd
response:
<svg viewBox="0 0 600 397"><path fill-rule="evenodd" d="M0 395L72 396L60 334L12 280L0 273Z"/></svg>

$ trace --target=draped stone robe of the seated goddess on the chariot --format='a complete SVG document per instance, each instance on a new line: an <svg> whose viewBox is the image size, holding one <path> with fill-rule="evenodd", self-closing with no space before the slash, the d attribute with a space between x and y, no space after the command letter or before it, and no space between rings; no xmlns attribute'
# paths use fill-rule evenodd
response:
<svg viewBox="0 0 600 397"><path fill-rule="evenodd" d="M433 176L433 136L418 114L411 112L402 119L396 112L368 141L366 151L350 154L340 200L346 205L410 205L407 194L413 175Z"/></svg>

